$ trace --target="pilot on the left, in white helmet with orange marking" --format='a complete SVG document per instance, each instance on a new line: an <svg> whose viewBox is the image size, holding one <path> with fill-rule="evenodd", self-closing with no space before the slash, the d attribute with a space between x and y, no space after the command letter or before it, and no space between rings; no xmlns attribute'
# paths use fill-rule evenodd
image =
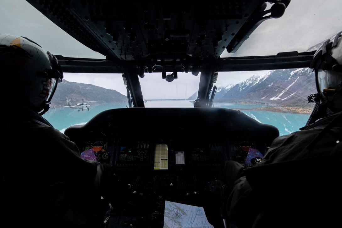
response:
<svg viewBox="0 0 342 228"><path fill-rule="evenodd" d="M107 209L105 166L81 158L77 145L41 116L63 79L57 58L28 38L0 34L0 69L5 221L98 227Z"/></svg>

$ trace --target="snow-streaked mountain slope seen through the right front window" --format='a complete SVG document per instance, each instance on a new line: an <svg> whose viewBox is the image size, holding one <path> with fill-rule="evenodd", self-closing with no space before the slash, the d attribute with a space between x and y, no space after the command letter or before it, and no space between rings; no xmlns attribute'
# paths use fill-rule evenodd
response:
<svg viewBox="0 0 342 228"><path fill-rule="evenodd" d="M223 91L223 90L221 90ZM221 92L220 91L220 92ZM262 102L302 105L307 96L316 93L314 73L308 68L280 69L263 75L252 75L229 90L220 93L214 102Z"/></svg>

